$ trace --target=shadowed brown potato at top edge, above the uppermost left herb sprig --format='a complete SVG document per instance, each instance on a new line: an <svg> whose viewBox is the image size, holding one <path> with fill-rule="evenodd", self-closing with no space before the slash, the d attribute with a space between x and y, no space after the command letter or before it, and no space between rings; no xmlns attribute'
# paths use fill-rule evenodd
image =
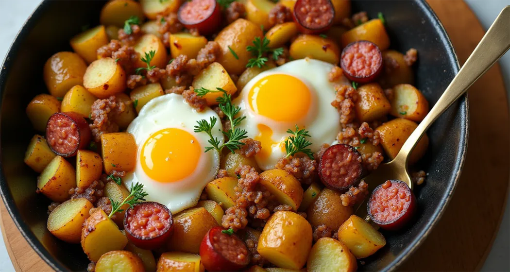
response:
<svg viewBox="0 0 510 272"><path fill-rule="evenodd" d="M142 6L134 0L111 0L101 9L99 23L103 26L116 26L122 28L124 21L131 16L137 16L143 21Z"/></svg>

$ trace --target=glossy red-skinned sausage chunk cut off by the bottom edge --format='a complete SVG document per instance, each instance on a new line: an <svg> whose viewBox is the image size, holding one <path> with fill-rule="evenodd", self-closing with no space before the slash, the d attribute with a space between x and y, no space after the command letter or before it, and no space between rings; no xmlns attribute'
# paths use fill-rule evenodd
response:
<svg viewBox="0 0 510 272"><path fill-rule="evenodd" d="M203 237L200 259L207 271L238 271L249 264L248 247L229 231L218 226L210 229Z"/></svg>

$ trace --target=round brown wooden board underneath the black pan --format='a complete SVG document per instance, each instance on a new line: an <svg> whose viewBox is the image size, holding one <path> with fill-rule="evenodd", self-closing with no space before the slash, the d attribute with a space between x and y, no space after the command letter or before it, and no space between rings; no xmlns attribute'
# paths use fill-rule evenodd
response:
<svg viewBox="0 0 510 272"><path fill-rule="evenodd" d="M483 36L462 0L428 0L443 22L461 63ZM401 271L473 271L485 260L505 205L510 158L510 119L499 65L471 87L466 164L453 199L438 226ZM481 186L483 185L483 186ZM481 195L481 200L477 195ZM17 271L50 271L18 232L1 205L2 233Z"/></svg>

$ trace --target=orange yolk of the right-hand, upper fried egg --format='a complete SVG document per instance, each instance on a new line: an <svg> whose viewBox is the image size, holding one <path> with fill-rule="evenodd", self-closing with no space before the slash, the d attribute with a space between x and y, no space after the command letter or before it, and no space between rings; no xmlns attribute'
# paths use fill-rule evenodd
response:
<svg viewBox="0 0 510 272"><path fill-rule="evenodd" d="M279 73L255 83L248 93L248 102L257 114L294 124L307 115L311 97L310 89L301 80Z"/></svg>

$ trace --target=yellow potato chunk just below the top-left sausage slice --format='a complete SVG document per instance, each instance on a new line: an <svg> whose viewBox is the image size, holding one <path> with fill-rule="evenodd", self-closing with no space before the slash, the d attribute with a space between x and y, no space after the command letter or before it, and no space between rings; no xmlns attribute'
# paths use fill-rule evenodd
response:
<svg viewBox="0 0 510 272"><path fill-rule="evenodd" d="M186 55L195 59L198 51L206 46L207 38L204 36L193 36L189 33L175 33L170 35L170 54L175 59L179 55Z"/></svg>

